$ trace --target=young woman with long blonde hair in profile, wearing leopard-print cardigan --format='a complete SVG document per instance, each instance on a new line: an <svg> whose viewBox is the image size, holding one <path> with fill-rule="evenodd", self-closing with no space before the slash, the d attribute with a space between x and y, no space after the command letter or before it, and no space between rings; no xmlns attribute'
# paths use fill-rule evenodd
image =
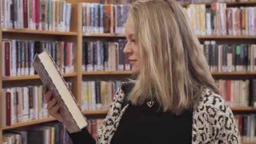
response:
<svg viewBox="0 0 256 144"><path fill-rule="evenodd" d="M132 73L110 106L97 139L86 128L77 143L241 143L187 14L173 0L137 1L125 26ZM51 116L59 105L44 88Z"/></svg>

